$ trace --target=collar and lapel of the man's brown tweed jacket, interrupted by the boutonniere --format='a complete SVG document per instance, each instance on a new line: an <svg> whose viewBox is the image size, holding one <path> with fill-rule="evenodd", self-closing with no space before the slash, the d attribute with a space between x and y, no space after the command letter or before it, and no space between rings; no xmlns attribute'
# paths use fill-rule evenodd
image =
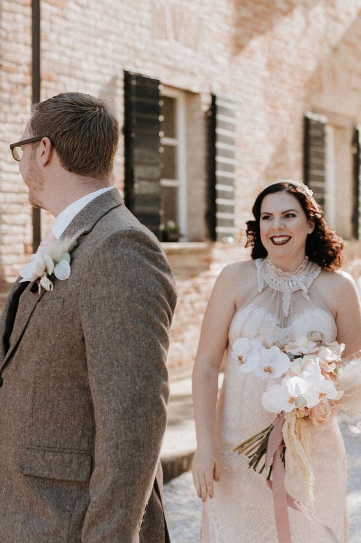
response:
<svg viewBox="0 0 361 543"><path fill-rule="evenodd" d="M75 250L80 242L80 238L90 232L98 220L104 217L111 209L122 204L123 199L117 188L112 188L110 191L100 194L97 198L94 198L94 200L87 204L83 210L74 217L61 235L62 239L64 237L73 237L79 233L79 237L74 239L69 247L69 252ZM39 302L42 295L46 292L45 289L42 288L40 293L32 293L30 292L31 284L20 283L19 281L20 277L18 277L9 293L0 321L0 331L3 336L3 340L0 342L0 371L16 348L37 302ZM18 315L18 319L16 319L15 323L16 312L21 295L23 295L21 299L22 313L21 315ZM11 347L9 348L11 335Z"/></svg>

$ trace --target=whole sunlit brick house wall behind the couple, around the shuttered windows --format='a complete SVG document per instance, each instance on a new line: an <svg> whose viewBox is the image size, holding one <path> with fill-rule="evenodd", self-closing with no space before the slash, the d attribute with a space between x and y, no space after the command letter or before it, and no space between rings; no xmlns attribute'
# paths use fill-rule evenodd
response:
<svg viewBox="0 0 361 543"><path fill-rule="evenodd" d="M0 11L0 277L2 288L31 248L31 213L8 144L20 139L31 100L31 2ZM42 0L42 99L78 90L106 98L123 120L123 70L187 93L194 145L187 149L188 217L205 232L204 111L211 92L237 104L236 225L277 178L302 178L306 110L361 119L360 0ZM113 182L122 188L123 138ZM197 150L192 155L192 150ZM50 218L44 214L45 228ZM357 251L354 252L357 256ZM192 361L201 314L218 269L243 249L212 249L208 270L180 272L169 364ZM170 256L171 260L176 257ZM177 264L178 266L178 264ZM188 324L187 324L188 323ZM192 325L192 326L191 326ZM186 345L186 348L185 348Z"/></svg>

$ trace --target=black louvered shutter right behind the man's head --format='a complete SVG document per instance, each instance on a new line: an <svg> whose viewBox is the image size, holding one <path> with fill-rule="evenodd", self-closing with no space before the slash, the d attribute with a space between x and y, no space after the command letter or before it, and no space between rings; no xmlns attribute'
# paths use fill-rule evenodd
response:
<svg viewBox="0 0 361 543"><path fill-rule="evenodd" d="M124 72L125 205L160 237L160 81Z"/></svg>

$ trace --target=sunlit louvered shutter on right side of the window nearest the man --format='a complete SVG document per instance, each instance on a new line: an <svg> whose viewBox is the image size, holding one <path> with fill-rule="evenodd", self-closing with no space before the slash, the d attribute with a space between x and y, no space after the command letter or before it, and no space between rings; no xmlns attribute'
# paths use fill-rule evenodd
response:
<svg viewBox="0 0 361 543"><path fill-rule="evenodd" d="M208 231L213 241L227 241L235 238L235 103L212 95L207 116Z"/></svg>

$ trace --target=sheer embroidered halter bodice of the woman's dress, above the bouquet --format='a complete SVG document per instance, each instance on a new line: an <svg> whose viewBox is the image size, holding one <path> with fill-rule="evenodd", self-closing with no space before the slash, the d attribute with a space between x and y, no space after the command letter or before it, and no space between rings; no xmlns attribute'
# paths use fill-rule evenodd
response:
<svg viewBox="0 0 361 543"><path fill-rule="evenodd" d="M259 338L266 346L284 343L320 327L331 341L336 327L333 315L315 286L321 268L308 258L294 272L283 271L269 260L256 260L257 289L248 296L232 319L229 341L238 337Z"/></svg>

